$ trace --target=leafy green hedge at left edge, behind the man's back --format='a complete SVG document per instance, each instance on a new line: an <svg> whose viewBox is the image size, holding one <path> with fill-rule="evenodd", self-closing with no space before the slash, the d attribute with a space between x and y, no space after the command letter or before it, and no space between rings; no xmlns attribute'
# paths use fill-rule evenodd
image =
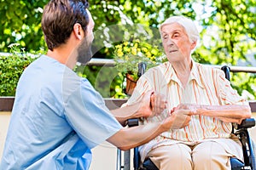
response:
<svg viewBox="0 0 256 170"><path fill-rule="evenodd" d="M0 96L15 96L15 90L21 73L36 57L26 54L17 48L17 44L10 46L12 54L0 54Z"/></svg>

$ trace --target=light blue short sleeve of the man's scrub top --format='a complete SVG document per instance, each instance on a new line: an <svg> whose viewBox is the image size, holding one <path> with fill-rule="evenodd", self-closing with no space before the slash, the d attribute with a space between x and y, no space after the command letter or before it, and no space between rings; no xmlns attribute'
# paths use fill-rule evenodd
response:
<svg viewBox="0 0 256 170"><path fill-rule="evenodd" d="M101 144L122 127L86 79L82 79L79 88L68 97L65 116L89 148Z"/></svg>

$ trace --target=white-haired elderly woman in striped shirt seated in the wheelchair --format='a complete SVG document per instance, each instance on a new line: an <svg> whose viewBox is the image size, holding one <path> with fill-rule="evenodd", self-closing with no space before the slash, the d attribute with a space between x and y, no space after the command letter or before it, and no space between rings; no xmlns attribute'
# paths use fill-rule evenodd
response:
<svg viewBox="0 0 256 170"><path fill-rule="evenodd" d="M230 169L230 157L243 160L231 122L240 123L251 116L247 101L230 87L223 71L191 58L199 39L192 20L172 16L160 25L160 35L168 62L140 77L126 105L154 90L154 94L165 94L166 110L144 118L144 124L160 121L165 114L182 108L189 107L192 116L189 126L173 127L141 146L142 161L149 157L159 169L166 170ZM158 98L154 99L153 104Z"/></svg>

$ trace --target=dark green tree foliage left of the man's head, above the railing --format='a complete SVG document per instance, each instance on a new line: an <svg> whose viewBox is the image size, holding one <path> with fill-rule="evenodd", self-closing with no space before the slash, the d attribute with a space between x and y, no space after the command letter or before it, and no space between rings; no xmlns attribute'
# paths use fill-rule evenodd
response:
<svg viewBox="0 0 256 170"><path fill-rule="evenodd" d="M41 17L48 0L2 0L0 5L0 51L9 52L9 45L19 42L27 52L46 48Z"/></svg>

